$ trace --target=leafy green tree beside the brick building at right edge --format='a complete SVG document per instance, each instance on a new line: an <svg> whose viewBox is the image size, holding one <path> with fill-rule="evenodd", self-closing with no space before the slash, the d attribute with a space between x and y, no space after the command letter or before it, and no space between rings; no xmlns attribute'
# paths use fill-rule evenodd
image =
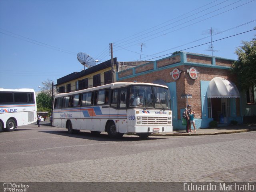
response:
<svg viewBox="0 0 256 192"><path fill-rule="evenodd" d="M256 86L256 39L242 41L235 53L238 60L232 64L231 72L237 76L240 89L248 90Z"/></svg>

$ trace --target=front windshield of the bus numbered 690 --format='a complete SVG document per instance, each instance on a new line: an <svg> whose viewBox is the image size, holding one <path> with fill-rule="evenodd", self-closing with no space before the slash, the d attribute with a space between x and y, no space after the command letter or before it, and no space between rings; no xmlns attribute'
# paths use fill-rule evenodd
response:
<svg viewBox="0 0 256 192"><path fill-rule="evenodd" d="M168 89L147 85L131 86L130 107L170 109Z"/></svg>

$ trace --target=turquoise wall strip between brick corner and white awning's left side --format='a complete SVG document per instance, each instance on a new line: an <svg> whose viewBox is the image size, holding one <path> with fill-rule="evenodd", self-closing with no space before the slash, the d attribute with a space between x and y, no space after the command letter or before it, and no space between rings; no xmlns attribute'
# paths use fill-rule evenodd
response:
<svg viewBox="0 0 256 192"><path fill-rule="evenodd" d="M200 81L202 119L208 118L207 88L209 84L210 81Z"/></svg>

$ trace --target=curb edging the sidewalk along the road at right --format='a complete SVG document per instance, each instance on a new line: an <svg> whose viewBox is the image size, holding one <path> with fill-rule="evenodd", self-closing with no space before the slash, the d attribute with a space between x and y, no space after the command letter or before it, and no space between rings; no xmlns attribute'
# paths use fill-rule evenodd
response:
<svg viewBox="0 0 256 192"><path fill-rule="evenodd" d="M231 134L231 133L242 133L256 131L256 128L252 129L242 129L242 130L234 130L234 131L225 131L225 132L214 132L214 133L170 133L170 134L158 134L153 133L152 136L199 136L199 135L220 135L220 134Z"/></svg>

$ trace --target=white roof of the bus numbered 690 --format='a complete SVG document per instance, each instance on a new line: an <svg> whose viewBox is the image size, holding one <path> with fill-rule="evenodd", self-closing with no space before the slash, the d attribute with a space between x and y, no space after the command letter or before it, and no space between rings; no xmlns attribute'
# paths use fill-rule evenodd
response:
<svg viewBox="0 0 256 192"><path fill-rule="evenodd" d="M153 83L116 82L116 83L110 83L110 84L106 84L106 85L101 85L101 86L92 87L92 88L83 89L83 90L78 90L78 91L69 92L69 93L59 93L59 94L56 94L55 97L80 94L80 93L83 93L83 92L90 92L90 91L95 91L95 90L100 90L100 89L105 89L105 88L114 89L114 88L130 86L130 85L149 85L149 86L158 86L158 87L168 88L167 86L160 85L160 84L153 84Z"/></svg>

